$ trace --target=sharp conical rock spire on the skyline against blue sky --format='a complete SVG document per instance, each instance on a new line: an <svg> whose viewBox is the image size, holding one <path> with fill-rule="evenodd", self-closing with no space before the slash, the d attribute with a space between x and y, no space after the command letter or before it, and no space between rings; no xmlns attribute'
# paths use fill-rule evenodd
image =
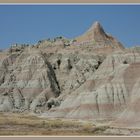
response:
<svg viewBox="0 0 140 140"><path fill-rule="evenodd" d="M101 24L96 21L92 26L81 36L77 37L77 42L92 42L94 41L96 44L93 47L103 48L103 47L110 47L113 49L123 49L123 45L113 36L107 34Z"/></svg>

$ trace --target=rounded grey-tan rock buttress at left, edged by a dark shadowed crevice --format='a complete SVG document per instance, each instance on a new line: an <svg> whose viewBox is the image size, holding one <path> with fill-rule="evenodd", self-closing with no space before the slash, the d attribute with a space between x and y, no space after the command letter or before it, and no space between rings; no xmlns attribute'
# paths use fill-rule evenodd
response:
<svg viewBox="0 0 140 140"><path fill-rule="evenodd" d="M12 61L13 57L10 55L3 60L6 67L2 73L1 98L4 99L0 105L1 111L5 111L5 100L9 110L35 111L37 106L44 105L50 97L59 96L56 75L43 54L36 52L27 55L27 52L23 52L17 61Z"/></svg>

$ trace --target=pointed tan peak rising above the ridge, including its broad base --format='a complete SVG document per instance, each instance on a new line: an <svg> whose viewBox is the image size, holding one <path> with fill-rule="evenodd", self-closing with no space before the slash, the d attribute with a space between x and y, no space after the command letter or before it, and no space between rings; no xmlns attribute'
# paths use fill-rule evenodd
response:
<svg viewBox="0 0 140 140"><path fill-rule="evenodd" d="M75 45L92 47L99 52L111 53L123 50L123 45L111 35L105 33L99 22L95 22L86 33L76 38Z"/></svg>

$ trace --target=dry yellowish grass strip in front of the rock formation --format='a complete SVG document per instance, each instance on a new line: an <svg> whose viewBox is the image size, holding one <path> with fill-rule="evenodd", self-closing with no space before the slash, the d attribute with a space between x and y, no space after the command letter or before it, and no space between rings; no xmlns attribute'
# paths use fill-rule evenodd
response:
<svg viewBox="0 0 140 140"><path fill-rule="evenodd" d="M101 135L106 129L92 122L0 113L0 135Z"/></svg>

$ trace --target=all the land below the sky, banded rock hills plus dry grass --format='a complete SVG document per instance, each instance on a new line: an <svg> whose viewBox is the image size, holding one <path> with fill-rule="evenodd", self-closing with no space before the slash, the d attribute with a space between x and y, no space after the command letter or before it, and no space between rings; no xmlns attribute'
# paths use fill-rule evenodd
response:
<svg viewBox="0 0 140 140"><path fill-rule="evenodd" d="M0 52L0 112L1 135L140 135L140 48L99 22L14 44Z"/></svg>

